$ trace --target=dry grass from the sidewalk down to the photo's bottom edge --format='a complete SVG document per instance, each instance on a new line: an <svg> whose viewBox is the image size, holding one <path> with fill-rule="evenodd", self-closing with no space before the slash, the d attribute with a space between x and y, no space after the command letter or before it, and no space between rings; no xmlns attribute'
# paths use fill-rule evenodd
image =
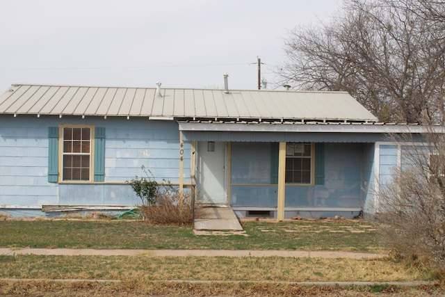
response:
<svg viewBox="0 0 445 297"><path fill-rule="evenodd" d="M0 296L442 296L417 287L323 287L294 282L428 280L389 259L0 256ZM57 281L69 280L69 281Z"/></svg>

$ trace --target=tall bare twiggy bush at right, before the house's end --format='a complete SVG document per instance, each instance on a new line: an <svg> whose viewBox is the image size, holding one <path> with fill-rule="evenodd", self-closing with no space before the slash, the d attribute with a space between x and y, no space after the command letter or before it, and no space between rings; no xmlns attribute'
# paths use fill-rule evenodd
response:
<svg viewBox="0 0 445 297"><path fill-rule="evenodd" d="M401 143L401 167L380 181L376 218L396 255L444 272L445 141L435 133L425 139Z"/></svg>

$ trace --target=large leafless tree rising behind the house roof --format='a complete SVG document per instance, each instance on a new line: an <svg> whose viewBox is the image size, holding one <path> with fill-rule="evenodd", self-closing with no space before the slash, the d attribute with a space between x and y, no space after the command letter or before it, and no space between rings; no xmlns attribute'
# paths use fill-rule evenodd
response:
<svg viewBox="0 0 445 297"><path fill-rule="evenodd" d="M443 16L439 1L346 0L331 22L291 31L281 83L347 91L382 121L442 123Z"/></svg>

